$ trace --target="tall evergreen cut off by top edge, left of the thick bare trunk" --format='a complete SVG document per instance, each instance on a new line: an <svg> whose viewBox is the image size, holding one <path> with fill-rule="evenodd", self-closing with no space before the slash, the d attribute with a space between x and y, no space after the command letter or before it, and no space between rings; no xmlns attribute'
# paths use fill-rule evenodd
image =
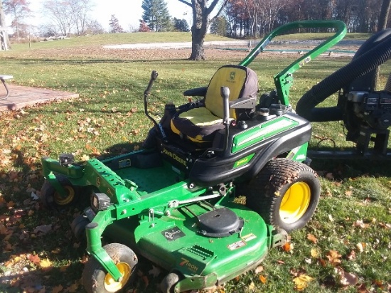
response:
<svg viewBox="0 0 391 293"><path fill-rule="evenodd" d="M142 18L151 31L171 30L171 16L164 0L143 0L141 8L144 9Z"/></svg>

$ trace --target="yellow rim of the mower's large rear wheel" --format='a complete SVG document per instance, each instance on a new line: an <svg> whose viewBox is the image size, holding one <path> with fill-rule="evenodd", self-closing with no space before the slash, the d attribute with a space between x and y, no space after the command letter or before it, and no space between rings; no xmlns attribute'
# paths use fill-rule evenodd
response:
<svg viewBox="0 0 391 293"><path fill-rule="evenodd" d="M294 183L284 194L279 207L279 215L286 224L299 220L309 207L311 188L305 182Z"/></svg>

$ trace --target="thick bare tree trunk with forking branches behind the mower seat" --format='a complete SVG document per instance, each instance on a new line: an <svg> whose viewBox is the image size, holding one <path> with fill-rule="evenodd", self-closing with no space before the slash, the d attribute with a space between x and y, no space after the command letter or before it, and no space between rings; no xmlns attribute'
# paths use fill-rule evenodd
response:
<svg viewBox="0 0 391 293"><path fill-rule="evenodd" d="M210 6L207 6L208 0L178 0L183 4L191 6L193 10L193 26L191 26L191 56L190 60L203 60L205 59L205 53L203 48L203 41L205 39L206 32L210 21L213 21L221 11L228 0L213 0ZM213 17L209 18L215 7L220 2L221 6L218 13Z"/></svg>

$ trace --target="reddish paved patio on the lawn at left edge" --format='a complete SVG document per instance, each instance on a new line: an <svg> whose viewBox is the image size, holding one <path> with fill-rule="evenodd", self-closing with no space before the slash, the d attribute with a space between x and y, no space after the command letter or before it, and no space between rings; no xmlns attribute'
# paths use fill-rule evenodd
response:
<svg viewBox="0 0 391 293"><path fill-rule="evenodd" d="M9 97L7 97L6 100L0 100L0 111L19 110L28 105L79 97L79 94L74 92L47 90L38 87L23 87L21 85L11 85L8 83L7 86L9 87ZM5 92L5 89L0 83L0 95L2 95L3 92Z"/></svg>

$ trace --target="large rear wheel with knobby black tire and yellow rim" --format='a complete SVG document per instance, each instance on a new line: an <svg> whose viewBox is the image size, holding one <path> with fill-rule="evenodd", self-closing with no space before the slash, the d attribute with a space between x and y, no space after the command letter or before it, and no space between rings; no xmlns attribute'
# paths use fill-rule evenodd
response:
<svg viewBox="0 0 391 293"><path fill-rule="evenodd" d="M304 227L318 206L321 186L305 164L278 158L269 161L242 191L246 206L269 225L286 232Z"/></svg>

